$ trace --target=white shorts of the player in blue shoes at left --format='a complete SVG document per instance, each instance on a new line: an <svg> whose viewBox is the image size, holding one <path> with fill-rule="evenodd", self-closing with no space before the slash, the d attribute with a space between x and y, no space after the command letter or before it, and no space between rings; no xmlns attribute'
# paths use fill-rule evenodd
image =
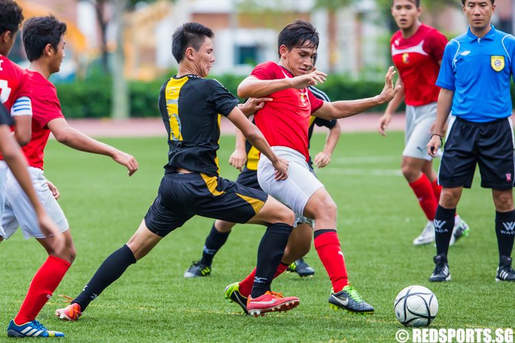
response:
<svg viewBox="0 0 515 343"><path fill-rule="evenodd" d="M28 167L32 185L36 190L36 194L47 209L49 216L56 222L61 232L68 230L68 220L65 213L62 212L54 194L48 188L47 179L43 175L43 170L34 167ZM5 206L2 216L3 237L8 239L13 233L21 227L21 232L25 239L30 237L45 238L38 225L38 218L29 198L21 189L18 181L9 170L7 174L7 196L5 197Z"/></svg>

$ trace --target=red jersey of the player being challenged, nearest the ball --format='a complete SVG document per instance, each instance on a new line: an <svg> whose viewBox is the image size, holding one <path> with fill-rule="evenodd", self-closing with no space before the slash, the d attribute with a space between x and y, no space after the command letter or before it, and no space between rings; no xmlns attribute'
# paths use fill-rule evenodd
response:
<svg viewBox="0 0 515 343"><path fill-rule="evenodd" d="M259 80L280 80L293 75L274 62L264 62L251 73ZM315 97L308 88L288 88L275 92L271 102L254 115L255 125L263 132L270 146L290 147L309 160L308 130L310 117L322 107L323 101Z"/></svg>

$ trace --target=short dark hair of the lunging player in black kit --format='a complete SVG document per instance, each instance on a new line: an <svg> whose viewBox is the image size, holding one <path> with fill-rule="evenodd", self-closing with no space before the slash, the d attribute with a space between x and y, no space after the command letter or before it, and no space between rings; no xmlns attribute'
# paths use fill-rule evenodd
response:
<svg viewBox="0 0 515 343"><path fill-rule="evenodd" d="M183 60L187 48L192 47L198 51L205 37L213 38L214 32L200 23L185 23L179 26L172 36L172 55L177 63Z"/></svg>

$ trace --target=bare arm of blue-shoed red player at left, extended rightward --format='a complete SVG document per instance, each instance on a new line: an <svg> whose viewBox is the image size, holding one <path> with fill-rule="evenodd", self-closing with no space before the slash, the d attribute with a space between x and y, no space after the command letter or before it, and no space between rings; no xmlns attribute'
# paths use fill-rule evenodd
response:
<svg viewBox="0 0 515 343"><path fill-rule="evenodd" d="M138 163L133 156L121 152L111 145L100 143L91 137L87 137L82 132L71 128L64 118L52 119L48 122L47 126L59 143L75 150L109 156L113 158L113 161L127 167L128 176L133 175L138 169Z"/></svg>

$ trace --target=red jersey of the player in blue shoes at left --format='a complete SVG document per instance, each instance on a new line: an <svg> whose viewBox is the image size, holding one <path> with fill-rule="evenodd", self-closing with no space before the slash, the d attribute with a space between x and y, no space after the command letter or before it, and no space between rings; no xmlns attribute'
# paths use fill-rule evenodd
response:
<svg viewBox="0 0 515 343"><path fill-rule="evenodd" d="M22 150L31 167L43 169L43 156L50 130L47 123L64 118L57 98L56 87L36 71L28 71L32 84L32 137Z"/></svg>

